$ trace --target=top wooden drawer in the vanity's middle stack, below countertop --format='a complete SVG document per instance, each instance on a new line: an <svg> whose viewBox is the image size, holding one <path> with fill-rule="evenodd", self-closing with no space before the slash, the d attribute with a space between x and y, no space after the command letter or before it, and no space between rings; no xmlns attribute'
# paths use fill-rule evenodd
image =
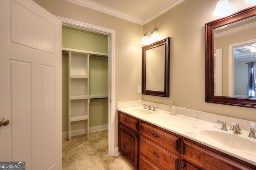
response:
<svg viewBox="0 0 256 170"><path fill-rule="evenodd" d="M170 150L174 153L180 153L180 138L146 123L140 123L140 133L153 141L154 143Z"/></svg>

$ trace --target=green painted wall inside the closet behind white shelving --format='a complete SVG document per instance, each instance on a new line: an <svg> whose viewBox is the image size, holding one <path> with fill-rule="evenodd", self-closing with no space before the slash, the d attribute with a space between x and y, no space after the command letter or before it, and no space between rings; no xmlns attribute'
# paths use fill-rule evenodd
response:
<svg viewBox="0 0 256 170"><path fill-rule="evenodd" d="M62 27L62 47L108 53L108 37ZM99 62L97 64L97 62ZM96 68L93 68L93 67ZM90 57L89 94L108 93L108 58ZM100 87L101 84L104 84ZM97 92L98 88L98 92ZM108 124L108 100L90 100L89 126ZM62 53L62 132L68 131L68 55Z"/></svg>

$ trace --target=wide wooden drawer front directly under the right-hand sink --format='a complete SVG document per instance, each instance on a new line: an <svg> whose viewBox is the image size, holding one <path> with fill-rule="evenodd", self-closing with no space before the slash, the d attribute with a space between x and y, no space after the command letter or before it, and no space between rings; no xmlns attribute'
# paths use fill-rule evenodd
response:
<svg viewBox="0 0 256 170"><path fill-rule="evenodd" d="M252 170L238 162L202 148L196 144L183 140L183 158L187 162L194 162L201 170ZM193 164L194 164L193 163Z"/></svg>

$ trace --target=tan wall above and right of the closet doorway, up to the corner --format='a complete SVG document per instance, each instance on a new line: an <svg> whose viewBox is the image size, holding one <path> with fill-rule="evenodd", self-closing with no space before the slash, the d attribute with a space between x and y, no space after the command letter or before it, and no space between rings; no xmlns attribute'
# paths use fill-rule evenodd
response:
<svg viewBox="0 0 256 170"><path fill-rule="evenodd" d="M56 16L90 23L115 30L115 102L141 100L141 47L143 26L104 14L66 0L34 0ZM118 114L116 111L116 140L118 146Z"/></svg>

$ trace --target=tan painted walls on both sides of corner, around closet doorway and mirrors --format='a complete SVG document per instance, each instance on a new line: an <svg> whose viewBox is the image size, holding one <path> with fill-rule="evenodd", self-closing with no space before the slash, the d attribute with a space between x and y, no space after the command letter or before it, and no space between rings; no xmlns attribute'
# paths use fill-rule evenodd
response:
<svg viewBox="0 0 256 170"><path fill-rule="evenodd" d="M144 26L65 0L34 1L54 15L115 30L116 102L142 99L170 104L175 100L177 107L256 121L255 109L204 102L204 24L218 19L212 15L216 1L185 0ZM170 37L170 98L137 94L137 86L141 86L140 41L143 32L154 27L162 39ZM116 112L116 147L117 122Z"/></svg>

